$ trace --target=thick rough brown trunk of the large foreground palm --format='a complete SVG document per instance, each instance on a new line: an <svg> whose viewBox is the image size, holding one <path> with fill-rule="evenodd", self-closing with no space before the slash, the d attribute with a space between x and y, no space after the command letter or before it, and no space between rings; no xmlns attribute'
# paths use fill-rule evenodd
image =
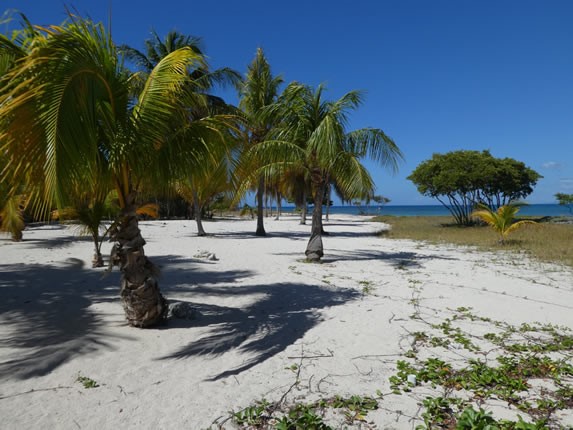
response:
<svg viewBox="0 0 573 430"><path fill-rule="evenodd" d="M121 221L112 233L115 244L112 264L121 271L120 295L129 325L150 327L163 322L167 316L167 301L159 291L159 269L143 252L145 240L141 237L135 207L123 210Z"/></svg>

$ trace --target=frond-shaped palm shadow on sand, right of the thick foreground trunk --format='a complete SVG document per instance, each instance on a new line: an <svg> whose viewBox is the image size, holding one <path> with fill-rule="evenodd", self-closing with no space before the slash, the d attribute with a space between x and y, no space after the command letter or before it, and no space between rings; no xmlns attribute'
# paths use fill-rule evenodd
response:
<svg viewBox="0 0 573 430"><path fill-rule="evenodd" d="M245 354L242 365L225 370L208 380L237 375L256 366L289 345L321 321L321 309L360 298L351 289L322 288L315 285L281 283L238 287L197 287L195 294L213 296L255 295L261 299L244 308L193 303L199 317L193 321L172 321L170 325L208 327L206 336L162 357L184 359L217 356L236 349Z"/></svg>

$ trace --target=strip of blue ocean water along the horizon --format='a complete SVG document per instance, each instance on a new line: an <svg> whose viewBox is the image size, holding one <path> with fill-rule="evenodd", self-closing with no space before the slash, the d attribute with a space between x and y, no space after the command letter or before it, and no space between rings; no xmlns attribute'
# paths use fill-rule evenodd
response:
<svg viewBox="0 0 573 430"><path fill-rule="evenodd" d="M292 211L293 208L283 208L284 212ZM323 208L324 211L325 208ZM332 206L330 213L349 215L394 215L394 216L444 216L450 215L442 205L386 205L386 206ZM518 215L525 216L566 216L571 215L568 208L556 204L537 204L523 206Z"/></svg>

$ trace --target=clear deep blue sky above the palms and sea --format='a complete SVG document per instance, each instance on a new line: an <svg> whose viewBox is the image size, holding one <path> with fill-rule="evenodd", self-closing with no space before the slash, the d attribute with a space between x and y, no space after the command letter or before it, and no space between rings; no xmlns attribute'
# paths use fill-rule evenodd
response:
<svg viewBox="0 0 573 430"><path fill-rule="evenodd" d="M571 0L1 4L38 24L61 23L65 5L107 23L111 5L118 44L142 48L151 29L176 29L203 39L213 67L244 73L260 46L286 82L324 82L332 99L366 91L351 128L382 128L406 157L395 176L369 165L392 204L435 203L405 178L433 153L457 149L489 149L537 170L544 179L530 203L573 193Z"/></svg>

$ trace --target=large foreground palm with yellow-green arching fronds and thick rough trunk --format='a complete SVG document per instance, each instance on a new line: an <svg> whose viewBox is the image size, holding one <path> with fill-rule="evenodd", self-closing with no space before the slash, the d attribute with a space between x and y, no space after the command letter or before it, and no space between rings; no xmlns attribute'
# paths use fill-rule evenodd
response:
<svg viewBox="0 0 573 430"><path fill-rule="evenodd" d="M172 52L134 99L133 75L122 66L103 25L71 18L43 30L38 44L3 80L0 151L18 169L4 172L2 179L9 184L22 177L41 180L45 206L65 207L73 198L69 190L77 184L89 190L107 175L121 211L110 234L127 320L137 327L157 324L167 305L158 270L144 253L137 195L144 183L166 184L182 175L193 168L197 152L208 151L209 127L195 124L192 141L173 138L189 128L181 103L187 71L203 58L189 48Z"/></svg>

